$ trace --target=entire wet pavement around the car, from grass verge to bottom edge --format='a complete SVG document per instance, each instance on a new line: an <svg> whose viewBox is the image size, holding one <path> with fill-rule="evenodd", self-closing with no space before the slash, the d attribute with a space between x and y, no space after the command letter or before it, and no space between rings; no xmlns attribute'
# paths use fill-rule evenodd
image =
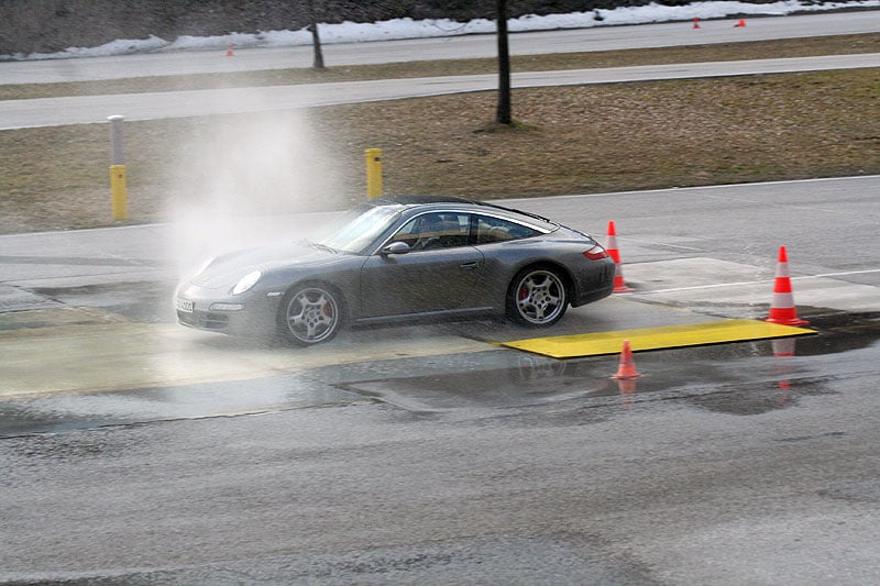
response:
<svg viewBox="0 0 880 586"><path fill-rule="evenodd" d="M871 181L540 202L632 210L636 291L560 335L760 319L792 243L815 335L636 353L635 382L499 322L193 332L162 226L0 237L0 583L878 583Z"/></svg>

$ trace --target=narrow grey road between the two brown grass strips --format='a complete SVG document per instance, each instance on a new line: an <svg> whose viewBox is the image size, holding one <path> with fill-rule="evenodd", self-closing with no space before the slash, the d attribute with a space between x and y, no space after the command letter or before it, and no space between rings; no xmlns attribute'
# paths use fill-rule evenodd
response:
<svg viewBox="0 0 880 586"><path fill-rule="evenodd" d="M650 81L751 74L849 69L880 66L880 53L790 59L610 67L566 71L528 71L512 76L515 88ZM125 120L153 120L260 112L338 103L392 100L464 91L493 90L497 75L381 79L194 91L77 96L0 101L0 130L90 124L122 114Z"/></svg>

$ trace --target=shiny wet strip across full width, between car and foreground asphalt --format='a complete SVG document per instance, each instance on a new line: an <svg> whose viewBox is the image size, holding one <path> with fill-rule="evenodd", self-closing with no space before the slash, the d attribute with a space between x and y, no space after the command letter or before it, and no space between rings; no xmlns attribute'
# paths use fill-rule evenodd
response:
<svg viewBox="0 0 880 586"><path fill-rule="evenodd" d="M818 331L812 336L639 352L635 380L610 378L617 356L560 361L492 349L250 380L10 399L0 402L0 436L373 401L463 417L560 406L582 423L613 414L596 407L661 399L757 414L835 392L835 379L847 372L875 372L879 321L877 313L831 316L812 319Z"/></svg>

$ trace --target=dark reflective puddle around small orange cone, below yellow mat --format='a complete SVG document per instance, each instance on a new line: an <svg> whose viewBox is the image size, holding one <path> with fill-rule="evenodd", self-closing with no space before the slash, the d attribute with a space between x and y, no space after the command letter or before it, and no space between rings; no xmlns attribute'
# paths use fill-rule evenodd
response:
<svg viewBox="0 0 880 586"><path fill-rule="evenodd" d="M385 376L346 383L343 388L425 413L584 399L591 399L593 407L614 401L631 406L638 400L676 398L712 411L758 414L791 407L806 396L834 392L834 367L846 368L840 355L872 352L880 338L878 320L877 313L827 316L811 324L818 331L813 336L636 353L642 376L635 380L610 378L617 371L616 356L557 361L515 353L516 364L506 367ZM877 361L861 362L873 367Z"/></svg>

